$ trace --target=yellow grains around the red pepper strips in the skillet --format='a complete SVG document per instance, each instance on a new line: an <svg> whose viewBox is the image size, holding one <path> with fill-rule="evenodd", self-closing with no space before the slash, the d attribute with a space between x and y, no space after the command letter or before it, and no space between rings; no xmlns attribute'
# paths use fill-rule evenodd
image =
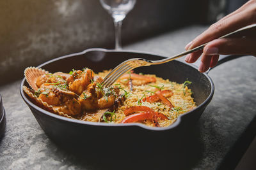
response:
<svg viewBox="0 0 256 170"><path fill-rule="evenodd" d="M102 73L98 73L98 75L104 78L108 73L109 71L103 71ZM192 92L190 89L188 89L186 85L184 86L184 84L175 83L170 80L164 80L163 78L159 78L154 74L145 74L145 76L152 76L156 78L156 82L148 83L145 85L134 85L140 82L136 82L139 80L132 80L132 83L133 83L132 92L129 90L129 87L127 85L127 80L116 81L116 84L124 88L124 90L129 92L129 94L125 99L124 103L121 106L119 106L117 110L115 110L113 123L118 124L122 122L122 120L125 118L124 111L127 108L130 108L131 106L148 106L152 110L159 113L163 113L164 115L166 115L166 117L169 118L168 120L161 120L160 118L158 118L160 127L167 127L173 124L173 122L177 120L179 115L181 115L182 113L186 113L187 111L192 110L193 108L196 107L196 104L193 101L193 97L191 97ZM166 97L166 98L173 104L174 108L171 109L169 106L166 106L161 101L156 103L148 103L147 101L143 102L141 100L143 99L143 97L152 96L151 92L156 91L156 87L152 87L150 85L163 87L162 90L172 90L173 96ZM124 94L124 90L120 90L120 93ZM147 91L150 91L150 92L147 92ZM91 118L87 117L85 120L90 121ZM110 121L110 117L108 117L108 120ZM150 127L154 127L153 122L150 120L144 120L142 123Z"/></svg>

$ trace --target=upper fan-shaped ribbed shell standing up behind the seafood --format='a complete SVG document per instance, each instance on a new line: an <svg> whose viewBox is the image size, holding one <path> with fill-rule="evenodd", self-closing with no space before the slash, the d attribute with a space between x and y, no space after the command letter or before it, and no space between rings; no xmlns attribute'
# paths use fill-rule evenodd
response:
<svg viewBox="0 0 256 170"><path fill-rule="evenodd" d="M36 79L44 74L49 74L49 72L37 67L27 67L24 71L24 76L26 77L29 86L35 91L38 90Z"/></svg>

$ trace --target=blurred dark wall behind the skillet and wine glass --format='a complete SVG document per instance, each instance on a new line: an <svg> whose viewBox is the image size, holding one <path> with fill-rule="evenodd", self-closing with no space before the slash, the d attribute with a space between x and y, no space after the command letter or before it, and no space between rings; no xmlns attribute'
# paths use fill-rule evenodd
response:
<svg viewBox="0 0 256 170"><path fill-rule="evenodd" d="M137 0L122 29L122 43L205 20L204 0ZM111 17L97 0L1 0L1 84L38 66L86 48L114 47Z"/></svg>

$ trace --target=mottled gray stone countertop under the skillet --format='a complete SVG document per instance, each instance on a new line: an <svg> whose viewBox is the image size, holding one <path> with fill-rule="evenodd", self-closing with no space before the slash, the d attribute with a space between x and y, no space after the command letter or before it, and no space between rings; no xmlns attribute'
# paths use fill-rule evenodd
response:
<svg viewBox="0 0 256 170"><path fill-rule="evenodd" d="M127 45L124 49L173 55L182 52L186 43L205 29L196 25L186 27ZM255 66L256 59L250 56L226 62L210 71L215 85L214 97L197 123L198 140L204 150L190 169L224 169L228 161L232 162L228 155L236 153L237 141L244 139L244 143L250 143L250 138L243 135L250 130L256 115ZM19 85L20 80L0 87L7 119L6 132L0 141L0 169L99 169L96 164L77 163L76 156L47 138L22 101Z"/></svg>

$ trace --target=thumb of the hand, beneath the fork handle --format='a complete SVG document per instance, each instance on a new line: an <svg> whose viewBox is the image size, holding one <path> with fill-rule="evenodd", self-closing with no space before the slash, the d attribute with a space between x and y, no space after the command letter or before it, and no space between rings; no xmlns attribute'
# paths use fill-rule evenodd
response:
<svg viewBox="0 0 256 170"><path fill-rule="evenodd" d="M256 38L214 39L204 47L204 55L233 54L256 56Z"/></svg>

